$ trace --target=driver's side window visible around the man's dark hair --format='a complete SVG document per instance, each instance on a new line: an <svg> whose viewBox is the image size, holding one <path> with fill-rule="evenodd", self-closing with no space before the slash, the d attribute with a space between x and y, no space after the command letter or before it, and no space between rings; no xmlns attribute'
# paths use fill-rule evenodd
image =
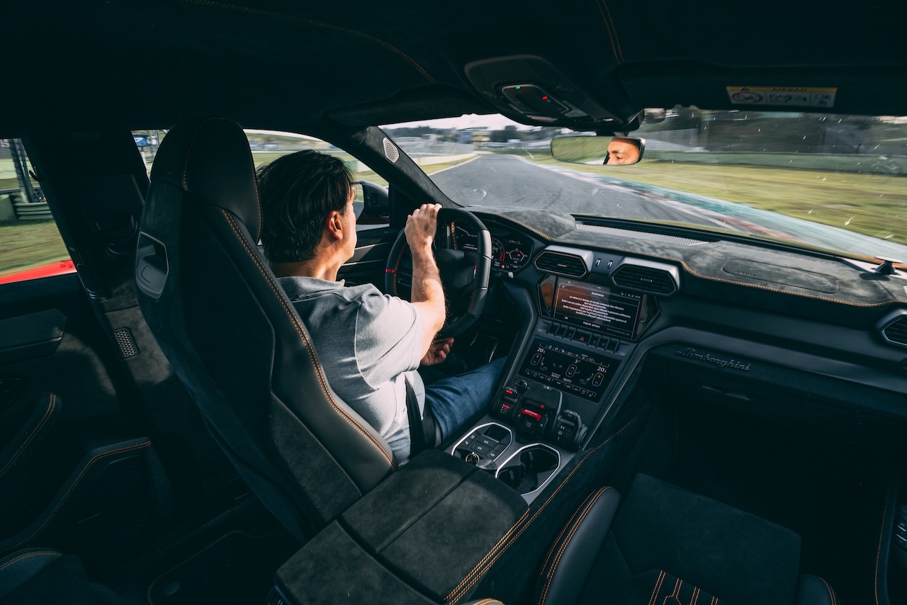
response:
<svg viewBox="0 0 907 605"><path fill-rule="evenodd" d="M292 132L247 130L249 147L256 168L295 151L315 150L333 155L346 163L356 181L356 230L380 229L389 223L387 206L387 181L375 174L362 161L327 141Z"/></svg>

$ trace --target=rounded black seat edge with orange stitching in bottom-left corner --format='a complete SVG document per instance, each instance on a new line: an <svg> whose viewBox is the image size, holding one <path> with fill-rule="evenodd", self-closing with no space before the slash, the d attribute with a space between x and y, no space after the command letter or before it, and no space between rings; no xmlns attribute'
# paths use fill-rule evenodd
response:
<svg viewBox="0 0 907 605"><path fill-rule="evenodd" d="M88 581L76 557L30 548L0 558L0 602L117 605L124 600L106 586Z"/></svg>

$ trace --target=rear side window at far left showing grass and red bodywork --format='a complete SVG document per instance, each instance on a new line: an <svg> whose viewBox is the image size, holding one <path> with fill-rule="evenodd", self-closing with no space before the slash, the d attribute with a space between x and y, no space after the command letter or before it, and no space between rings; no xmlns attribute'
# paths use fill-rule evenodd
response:
<svg viewBox="0 0 907 605"><path fill-rule="evenodd" d="M75 271L19 139L0 139L0 284Z"/></svg>

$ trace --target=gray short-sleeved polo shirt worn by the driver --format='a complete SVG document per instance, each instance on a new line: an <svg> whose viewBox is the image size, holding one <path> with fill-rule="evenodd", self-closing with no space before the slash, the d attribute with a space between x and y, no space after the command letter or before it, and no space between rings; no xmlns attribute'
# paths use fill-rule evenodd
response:
<svg viewBox="0 0 907 605"><path fill-rule="evenodd" d="M425 388L415 369L422 358L419 312L375 286L279 278L315 344L327 382L346 405L385 438L400 464L409 458L406 385L413 385L422 414Z"/></svg>

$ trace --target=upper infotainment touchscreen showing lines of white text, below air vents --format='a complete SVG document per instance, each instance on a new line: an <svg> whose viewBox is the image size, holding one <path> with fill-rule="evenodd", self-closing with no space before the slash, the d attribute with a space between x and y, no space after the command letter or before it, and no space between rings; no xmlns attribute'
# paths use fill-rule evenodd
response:
<svg viewBox="0 0 907 605"><path fill-rule="evenodd" d="M554 318L574 326L632 338L642 296L573 279L558 279Z"/></svg>

